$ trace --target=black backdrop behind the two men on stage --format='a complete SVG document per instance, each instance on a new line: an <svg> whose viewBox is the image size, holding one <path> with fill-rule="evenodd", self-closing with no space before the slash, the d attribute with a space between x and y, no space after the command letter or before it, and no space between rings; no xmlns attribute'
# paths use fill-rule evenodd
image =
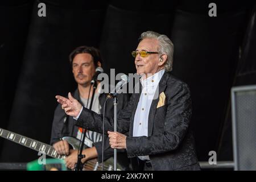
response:
<svg viewBox="0 0 256 182"><path fill-rule="evenodd" d="M46 3L46 17L38 4ZM215 2L217 17L208 16ZM76 88L68 55L101 49L104 70L134 73L130 52L143 31L175 45L173 74L192 91L192 126L200 160L218 151L232 160L230 88L255 84L253 1L2 1L0 127L49 142L56 94ZM248 81L248 79L250 81ZM236 81L234 81L236 80ZM0 162L28 162L37 152L0 139Z"/></svg>

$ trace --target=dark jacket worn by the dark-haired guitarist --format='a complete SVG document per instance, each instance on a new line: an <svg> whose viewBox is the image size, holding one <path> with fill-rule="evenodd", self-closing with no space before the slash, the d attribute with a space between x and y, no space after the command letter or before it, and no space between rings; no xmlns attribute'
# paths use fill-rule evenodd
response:
<svg viewBox="0 0 256 182"><path fill-rule="evenodd" d="M75 92L72 94L76 100L78 100L80 103L80 97L79 97L79 91L76 89ZM100 94L99 96L99 101L101 105L101 113L103 113L103 107L104 107L104 102L107 94ZM118 112L123 109L123 107L127 104L129 100L129 95L128 94L119 94L118 96ZM114 115L114 107L113 107L113 99L110 99L106 103L106 108L105 108L105 113L106 116L108 117L113 117ZM61 109L61 105L59 104L54 113L54 118L53 118L53 123L52 123L52 134L51 134L51 142L50 144L52 145L53 143L56 143L60 140L62 137L66 136L73 136L76 137L77 131L79 127L75 126L75 119L73 117L68 116L65 114L64 110ZM102 133L102 131L98 131L98 133ZM104 160L110 158L113 156L113 149L109 146L109 138L108 135L105 135L104 138ZM98 153L98 162L102 162L102 142L96 142L93 143L93 145L96 147L97 153ZM123 150L124 151L124 150ZM126 169L127 166L127 154L126 152L121 151L120 154L118 153L118 163L121 164L123 168ZM126 161L125 161L126 160ZM128 160L129 162L129 160ZM128 164L129 165L129 164Z"/></svg>

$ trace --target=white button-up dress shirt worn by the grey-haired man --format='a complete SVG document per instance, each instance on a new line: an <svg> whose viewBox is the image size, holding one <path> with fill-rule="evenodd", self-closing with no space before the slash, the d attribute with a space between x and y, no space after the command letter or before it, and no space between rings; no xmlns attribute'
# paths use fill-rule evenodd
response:
<svg viewBox="0 0 256 182"><path fill-rule="evenodd" d="M154 98L154 95L155 92L158 92L156 89L158 88L159 81L161 80L164 71L165 70L162 69L154 75L147 77L144 80L141 78L140 80L142 84L142 93L134 116L133 137L148 137L148 114L150 112L152 100L157 99ZM159 93L156 93L156 96L159 96ZM141 160L149 160L148 156L138 157Z"/></svg>

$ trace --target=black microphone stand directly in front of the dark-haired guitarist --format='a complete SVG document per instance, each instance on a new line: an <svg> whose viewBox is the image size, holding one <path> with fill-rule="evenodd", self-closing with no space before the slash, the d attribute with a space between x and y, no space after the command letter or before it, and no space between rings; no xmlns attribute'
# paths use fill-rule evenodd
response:
<svg viewBox="0 0 256 182"><path fill-rule="evenodd" d="M93 104L93 98L94 98L94 94L97 88L97 81L94 81L91 85L93 85L93 93L92 93L92 99L90 100L90 106L89 106L89 110L92 110L92 104ZM89 100L90 95L88 96L88 100ZM82 150L84 148L84 141L85 141L85 135L86 135L86 130L82 129L82 143L80 145L79 148L79 155L77 156L77 163L75 165L75 171L82 171L82 168L84 168L84 164L82 163L82 158L85 158L85 155L82 155Z"/></svg>

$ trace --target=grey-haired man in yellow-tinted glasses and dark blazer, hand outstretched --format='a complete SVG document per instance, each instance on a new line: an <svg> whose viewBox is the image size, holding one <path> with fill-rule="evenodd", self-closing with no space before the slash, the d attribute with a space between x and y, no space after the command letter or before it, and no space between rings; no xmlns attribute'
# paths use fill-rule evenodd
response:
<svg viewBox="0 0 256 182"><path fill-rule="evenodd" d="M200 170L189 127L191 96L188 85L170 73L173 53L166 35L143 32L132 52L142 89L119 113L118 132L113 132L113 118L105 117L110 146L126 148L134 170ZM102 131L102 115L82 107L70 93L56 98L77 126Z"/></svg>

